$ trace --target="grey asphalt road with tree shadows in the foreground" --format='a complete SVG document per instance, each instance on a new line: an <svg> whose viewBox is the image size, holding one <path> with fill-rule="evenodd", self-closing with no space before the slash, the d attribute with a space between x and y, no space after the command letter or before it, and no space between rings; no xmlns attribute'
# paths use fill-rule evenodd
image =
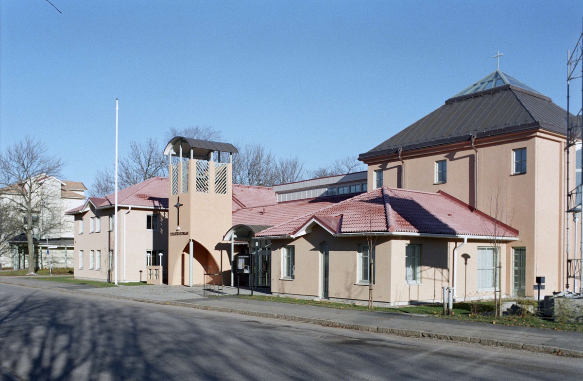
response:
<svg viewBox="0 0 583 381"><path fill-rule="evenodd" d="M580 359L6 284L0 364L30 380L583 379Z"/></svg>

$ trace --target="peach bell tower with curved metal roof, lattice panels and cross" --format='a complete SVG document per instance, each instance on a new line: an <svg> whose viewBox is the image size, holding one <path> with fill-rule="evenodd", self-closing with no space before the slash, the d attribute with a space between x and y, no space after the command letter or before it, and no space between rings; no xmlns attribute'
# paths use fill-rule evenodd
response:
<svg viewBox="0 0 583 381"><path fill-rule="evenodd" d="M226 143L175 137L168 142L168 285L223 284L230 274L231 163ZM230 275L229 275L230 278Z"/></svg>

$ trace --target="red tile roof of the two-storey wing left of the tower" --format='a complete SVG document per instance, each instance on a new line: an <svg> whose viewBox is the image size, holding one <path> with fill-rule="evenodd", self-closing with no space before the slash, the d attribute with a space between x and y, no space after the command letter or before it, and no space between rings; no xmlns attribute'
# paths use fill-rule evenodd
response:
<svg viewBox="0 0 583 381"><path fill-rule="evenodd" d="M168 178L167 177L152 177L141 183L132 185L118 191L117 202L118 205L131 205L132 207L148 207L168 209ZM98 208L113 207L115 204L115 193L109 194L105 197L89 197L87 201ZM82 211L85 205L71 209L66 214L75 214Z"/></svg>

